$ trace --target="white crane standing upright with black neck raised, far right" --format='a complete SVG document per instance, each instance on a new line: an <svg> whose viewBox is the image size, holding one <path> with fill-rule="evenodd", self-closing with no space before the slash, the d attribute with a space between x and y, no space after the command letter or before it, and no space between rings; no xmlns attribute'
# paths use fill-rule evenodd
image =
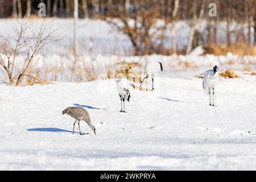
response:
<svg viewBox="0 0 256 182"><path fill-rule="evenodd" d="M211 104L210 102L210 106L214 106L214 87L219 81L217 69L218 67L215 65L213 69L210 69L204 72L203 89L205 90L205 92L208 92L209 97L210 97L211 90L213 93L213 101L212 101L213 104Z"/></svg>

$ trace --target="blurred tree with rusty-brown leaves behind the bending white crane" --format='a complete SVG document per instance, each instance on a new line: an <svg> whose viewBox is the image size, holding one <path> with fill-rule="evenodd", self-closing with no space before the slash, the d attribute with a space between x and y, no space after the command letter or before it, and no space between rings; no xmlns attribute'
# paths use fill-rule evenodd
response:
<svg viewBox="0 0 256 182"><path fill-rule="evenodd" d="M122 24L117 23L115 19L105 20L129 37L135 55L159 53L163 51L165 37L162 33L166 30L166 24L163 26L156 24L159 12L155 9L154 2L137 1L137 3L138 6L131 7L129 18L126 16L124 6L113 9L119 15Z"/></svg>

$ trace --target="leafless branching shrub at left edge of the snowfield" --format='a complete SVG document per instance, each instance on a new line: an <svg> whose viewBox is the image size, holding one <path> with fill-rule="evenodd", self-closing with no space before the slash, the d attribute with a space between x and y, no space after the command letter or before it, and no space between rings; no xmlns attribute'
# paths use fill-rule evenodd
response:
<svg viewBox="0 0 256 182"><path fill-rule="evenodd" d="M57 40L53 35L56 30L53 30L51 26L52 23L44 22L38 29L33 26L32 22L18 22L11 24L10 28L13 32L10 32L8 36L0 37L3 43L3 48L0 49L0 67L9 78L6 84L19 86L24 77L32 77L27 73L31 64L36 62L35 57L47 43ZM28 31L32 31L32 35L28 35ZM24 62L18 63L18 60Z"/></svg>

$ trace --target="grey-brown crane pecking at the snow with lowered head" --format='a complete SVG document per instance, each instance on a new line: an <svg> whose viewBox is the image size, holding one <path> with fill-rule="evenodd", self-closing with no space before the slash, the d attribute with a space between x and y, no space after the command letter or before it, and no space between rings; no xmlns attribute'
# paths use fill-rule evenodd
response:
<svg viewBox="0 0 256 182"><path fill-rule="evenodd" d="M89 113L84 108L82 108L82 107L67 107L66 109L64 109L62 111L62 114L68 114L72 118L75 118L76 121L78 121L78 125L79 125L80 121L84 120L90 126L90 128L93 130L94 134L96 135L96 128L92 125L92 122L90 122ZM74 134L74 130L75 130L76 121L73 125L73 134ZM81 135L80 125L79 125L79 132Z"/></svg>

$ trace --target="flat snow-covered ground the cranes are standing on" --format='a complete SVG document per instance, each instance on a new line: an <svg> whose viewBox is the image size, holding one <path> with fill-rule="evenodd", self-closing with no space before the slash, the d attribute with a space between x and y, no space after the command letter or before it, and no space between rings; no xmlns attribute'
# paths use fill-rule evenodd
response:
<svg viewBox="0 0 256 182"><path fill-rule="evenodd" d="M158 77L155 88L130 88L119 113L114 80L0 85L0 169L256 169L255 76L222 78L216 107L200 78ZM96 136L85 122L89 135L72 135L68 106L89 111Z"/></svg>

